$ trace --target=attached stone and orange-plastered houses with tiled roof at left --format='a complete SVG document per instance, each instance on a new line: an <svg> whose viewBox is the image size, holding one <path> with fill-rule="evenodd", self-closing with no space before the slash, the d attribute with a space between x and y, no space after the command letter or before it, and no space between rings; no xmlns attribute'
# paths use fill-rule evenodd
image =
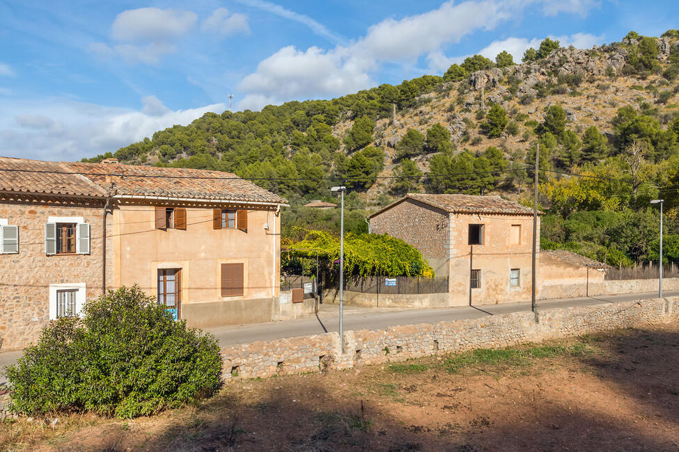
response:
<svg viewBox="0 0 679 452"><path fill-rule="evenodd" d="M225 172L0 157L0 350L122 285L191 326L271 320L285 203Z"/></svg>

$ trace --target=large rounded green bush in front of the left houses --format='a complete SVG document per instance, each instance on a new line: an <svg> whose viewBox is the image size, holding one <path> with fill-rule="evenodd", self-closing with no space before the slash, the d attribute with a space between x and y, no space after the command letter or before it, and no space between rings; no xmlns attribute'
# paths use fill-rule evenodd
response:
<svg viewBox="0 0 679 452"><path fill-rule="evenodd" d="M138 286L121 287L88 302L81 318L50 323L6 374L15 412L125 419L214 393L221 357L212 334L173 321Z"/></svg>

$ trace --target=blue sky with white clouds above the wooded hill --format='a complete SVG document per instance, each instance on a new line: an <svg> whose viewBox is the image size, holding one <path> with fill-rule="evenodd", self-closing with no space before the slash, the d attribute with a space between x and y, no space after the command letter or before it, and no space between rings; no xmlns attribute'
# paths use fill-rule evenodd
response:
<svg viewBox="0 0 679 452"><path fill-rule="evenodd" d="M642 6L640 6L640 4ZM675 1L0 1L0 155L77 160L221 113L679 28Z"/></svg>

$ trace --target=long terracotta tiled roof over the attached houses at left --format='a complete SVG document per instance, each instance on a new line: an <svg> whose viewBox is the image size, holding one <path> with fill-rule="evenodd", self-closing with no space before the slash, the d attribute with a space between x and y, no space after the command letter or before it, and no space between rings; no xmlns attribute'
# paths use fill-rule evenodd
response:
<svg viewBox="0 0 679 452"><path fill-rule="evenodd" d="M282 197L228 172L58 163L7 157L0 157L0 190L95 197L127 195L272 204L286 202Z"/></svg>

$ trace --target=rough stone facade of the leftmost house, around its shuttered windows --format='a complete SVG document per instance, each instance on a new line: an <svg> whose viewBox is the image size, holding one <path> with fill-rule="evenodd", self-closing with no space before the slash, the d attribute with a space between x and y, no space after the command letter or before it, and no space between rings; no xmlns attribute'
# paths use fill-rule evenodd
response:
<svg viewBox="0 0 679 452"><path fill-rule="evenodd" d="M82 201L80 201L82 202ZM0 218L19 226L19 254L0 255L0 350L19 350L36 341L49 323L49 284L86 284L86 299L102 293L103 204L25 197L0 198ZM90 224L89 255L45 255L50 216L81 216ZM113 283L111 216L107 218L107 286Z"/></svg>

